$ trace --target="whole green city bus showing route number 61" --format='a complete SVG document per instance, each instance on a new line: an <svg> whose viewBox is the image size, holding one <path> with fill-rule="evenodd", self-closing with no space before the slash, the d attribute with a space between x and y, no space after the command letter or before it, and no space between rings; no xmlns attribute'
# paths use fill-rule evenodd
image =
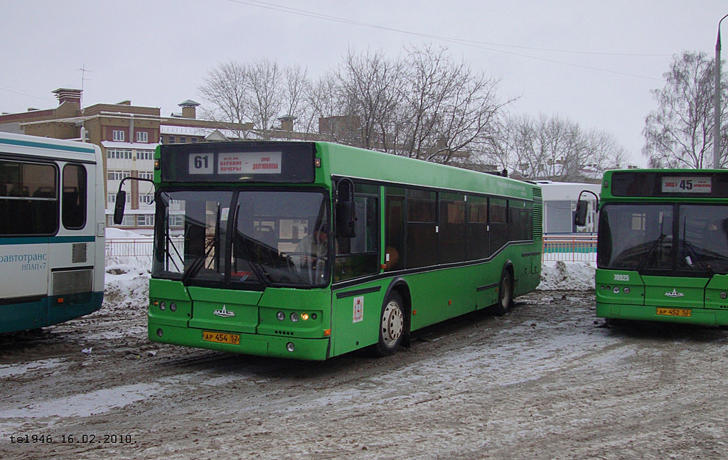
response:
<svg viewBox="0 0 728 460"><path fill-rule="evenodd" d="M531 183L324 142L164 145L155 159L152 341L384 356L539 284Z"/></svg>

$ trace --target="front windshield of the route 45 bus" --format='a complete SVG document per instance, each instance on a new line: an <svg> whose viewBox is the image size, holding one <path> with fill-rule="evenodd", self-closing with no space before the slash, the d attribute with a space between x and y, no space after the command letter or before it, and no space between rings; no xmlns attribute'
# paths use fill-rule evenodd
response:
<svg viewBox="0 0 728 460"><path fill-rule="evenodd" d="M605 205L597 253L604 269L728 273L728 206Z"/></svg>

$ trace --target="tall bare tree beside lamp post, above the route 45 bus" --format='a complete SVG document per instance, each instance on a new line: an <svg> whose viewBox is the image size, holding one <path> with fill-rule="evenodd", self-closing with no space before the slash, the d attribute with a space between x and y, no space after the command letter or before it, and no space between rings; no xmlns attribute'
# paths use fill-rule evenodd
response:
<svg viewBox="0 0 728 460"><path fill-rule="evenodd" d="M642 154L653 167L703 168L712 164L713 74L715 63L703 52L676 55L665 72L665 87L652 90L657 109L645 118ZM723 76L722 81L725 82ZM721 119L728 90L721 88ZM721 167L727 163L727 131L721 129Z"/></svg>

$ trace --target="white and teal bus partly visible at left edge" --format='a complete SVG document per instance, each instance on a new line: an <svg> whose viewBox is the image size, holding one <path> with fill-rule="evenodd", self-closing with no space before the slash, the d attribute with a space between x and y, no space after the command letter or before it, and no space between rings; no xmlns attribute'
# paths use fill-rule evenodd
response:
<svg viewBox="0 0 728 460"><path fill-rule="evenodd" d="M0 333L100 309L103 198L98 146L0 132Z"/></svg>

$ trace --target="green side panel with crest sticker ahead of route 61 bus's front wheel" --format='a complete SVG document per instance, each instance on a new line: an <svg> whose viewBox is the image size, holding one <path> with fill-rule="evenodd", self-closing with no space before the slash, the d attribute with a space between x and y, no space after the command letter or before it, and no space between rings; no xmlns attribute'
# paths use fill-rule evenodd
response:
<svg viewBox="0 0 728 460"><path fill-rule="evenodd" d="M332 355L348 353L379 341L381 306L387 285L389 279L333 291Z"/></svg>

